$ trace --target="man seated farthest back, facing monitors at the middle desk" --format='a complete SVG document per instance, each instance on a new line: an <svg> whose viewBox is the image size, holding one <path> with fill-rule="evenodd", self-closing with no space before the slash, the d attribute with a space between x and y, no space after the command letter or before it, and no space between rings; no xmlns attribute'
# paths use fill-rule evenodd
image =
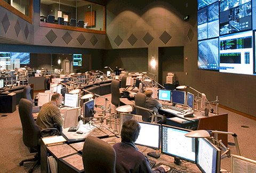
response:
<svg viewBox="0 0 256 173"><path fill-rule="evenodd" d="M146 90L145 95L147 96L146 108L158 113L158 109L162 108L162 104L152 97L153 91Z"/></svg>

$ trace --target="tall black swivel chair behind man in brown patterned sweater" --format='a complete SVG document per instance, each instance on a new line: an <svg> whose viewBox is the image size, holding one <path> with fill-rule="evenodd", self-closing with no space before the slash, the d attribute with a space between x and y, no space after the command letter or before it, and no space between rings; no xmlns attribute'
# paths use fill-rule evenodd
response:
<svg viewBox="0 0 256 173"><path fill-rule="evenodd" d="M35 149L38 153L35 155L33 159L25 159L20 162L20 166L23 165L24 162L35 161L33 166L28 170L29 173L33 172L35 167L40 164L40 137L41 132L44 130L55 130L57 134L57 129L44 129L39 130L39 127L36 125L35 120L32 114L32 102L27 100L26 98L21 98L19 103L19 115L22 125L23 132L23 143L30 148Z"/></svg>

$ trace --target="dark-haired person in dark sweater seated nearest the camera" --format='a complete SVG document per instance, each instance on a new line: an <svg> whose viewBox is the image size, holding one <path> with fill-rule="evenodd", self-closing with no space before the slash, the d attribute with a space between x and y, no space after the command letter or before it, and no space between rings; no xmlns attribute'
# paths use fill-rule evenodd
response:
<svg viewBox="0 0 256 173"><path fill-rule="evenodd" d="M158 167L154 171L151 170L147 156L141 153L134 144L139 133L140 125L137 121L127 120L123 123L122 142L113 145L116 151L116 173L164 173L168 171L167 168L163 167Z"/></svg>

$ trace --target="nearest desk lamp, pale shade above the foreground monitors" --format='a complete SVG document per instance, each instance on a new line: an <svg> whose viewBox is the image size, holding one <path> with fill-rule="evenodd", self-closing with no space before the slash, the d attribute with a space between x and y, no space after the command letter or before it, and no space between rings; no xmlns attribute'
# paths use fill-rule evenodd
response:
<svg viewBox="0 0 256 173"><path fill-rule="evenodd" d="M211 137L211 134L214 134L214 137ZM211 143L217 146L220 150L225 151L224 153L221 154L221 159L226 158L226 156L230 158L230 149L227 148L222 143L221 139L220 140L218 139L218 134L232 135L234 137L237 155L241 155L238 141L237 141L237 135L235 133L231 133L227 131L214 131L214 130L195 130L195 131L190 131L185 136L194 137L194 138L204 138L204 137L209 138Z"/></svg>

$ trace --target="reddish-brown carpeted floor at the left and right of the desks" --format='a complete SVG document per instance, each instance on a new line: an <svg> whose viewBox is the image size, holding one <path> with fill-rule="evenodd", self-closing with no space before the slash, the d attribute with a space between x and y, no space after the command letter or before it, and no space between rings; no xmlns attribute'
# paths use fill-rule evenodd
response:
<svg viewBox="0 0 256 173"><path fill-rule="evenodd" d="M110 94L107 97L110 98ZM103 100L98 98L97 104L103 104ZM220 108L219 112L228 113L228 131L238 135L241 154L246 158L256 160L256 138L254 137L256 122L225 109ZM25 163L24 166L19 166L19 162L23 159L32 158L34 154L30 154L28 148L23 144L18 106L17 111L13 113L0 113L0 136L0 172L28 172L33 163ZM231 135L228 136L228 142L234 143ZM228 145L228 147L231 149L231 154L236 154L235 146ZM230 158L221 160L221 168L230 170ZM40 167L37 167L34 172L40 172Z"/></svg>

